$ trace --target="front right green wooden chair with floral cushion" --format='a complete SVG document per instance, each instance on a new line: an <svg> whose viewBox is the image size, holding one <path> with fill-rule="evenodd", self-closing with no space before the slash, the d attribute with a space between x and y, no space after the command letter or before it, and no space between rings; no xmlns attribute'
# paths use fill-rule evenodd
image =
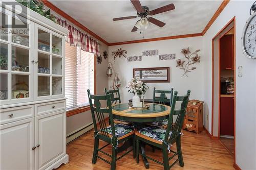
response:
<svg viewBox="0 0 256 170"><path fill-rule="evenodd" d="M182 167L184 166L182 152L181 152L181 135L182 135L181 129L182 129L182 125L185 117L190 90L187 90L187 94L184 96L177 96L177 94L178 92L175 91L172 108L169 114L169 121L166 129L157 127L157 126L150 126L135 132L137 163L139 163L139 154L141 154L139 153L139 144L141 141L143 141L148 144L154 145L157 148L162 149L163 163L151 157L148 157L145 154L143 154L143 156L163 165L164 170L169 170L178 161L180 163L180 166ZM182 102L179 110L175 110L175 105L177 101ZM172 123L173 115L177 115L177 119L176 119L174 128L171 131L171 127L172 127L171 123ZM174 144L175 142L176 142L177 152L170 150L172 149L171 148L172 144ZM168 157L168 151L174 154ZM169 160L173 159L176 155L178 155L178 159L175 160L171 165L169 165Z"/></svg>

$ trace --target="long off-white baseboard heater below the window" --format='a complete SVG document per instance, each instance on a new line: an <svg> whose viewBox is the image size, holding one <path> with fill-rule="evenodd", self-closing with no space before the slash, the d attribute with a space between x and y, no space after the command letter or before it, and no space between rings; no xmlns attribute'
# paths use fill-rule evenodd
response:
<svg viewBox="0 0 256 170"><path fill-rule="evenodd" d="M69 134L67 134L67 144L70 143L71 141L75 140L82 134L90 131L91 129L93 129L92 122L87 125L82 126L81 128L78 128L77 130L74 130L73 132L70 132Z"/></svg>

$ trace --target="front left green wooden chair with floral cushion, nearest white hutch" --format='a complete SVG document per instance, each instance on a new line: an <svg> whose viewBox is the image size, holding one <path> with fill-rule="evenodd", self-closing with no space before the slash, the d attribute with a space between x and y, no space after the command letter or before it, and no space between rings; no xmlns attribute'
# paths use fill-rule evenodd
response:
<svg viewBox="0 0 256 170"><path fill-rule="evenodd" d="M92 163L95 164L97 162L97 158L105 161L106 163L111 164L111 170L116 169L116 161L122 158L124 155L133 151L135 158L135 149L131 149L125 152L122 156L117 158L117 145L118 143L124 142L126 140L133 138L133 145L135 147L135 136L134 136L134 128L131 126L123 125L123 124L114 124L113 115L112 115L112 105L110 95L92 95L90 94L90 90L87 90L88 98L90 103L90 108L92 112L93 118L93 126L94 126L94 151L93 151L93 159ZM94 101L94 104L93 104ZM106 108L101 107L101 103L104 102L107 104ZM104 119L104 113L109 114L110 125L107 126ZM99 129L97 127L98 120ZM99 148L99 140L103 140L108 144ZM102 151L106 146L112 146L112 155ZM112 158L111 162L102 158L98 155L98 152L101 152Z"/></svg>

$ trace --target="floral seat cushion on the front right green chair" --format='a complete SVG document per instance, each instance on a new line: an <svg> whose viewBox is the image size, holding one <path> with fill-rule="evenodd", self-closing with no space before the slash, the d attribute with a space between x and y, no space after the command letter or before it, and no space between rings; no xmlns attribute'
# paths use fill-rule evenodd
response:
<svg viewBox="0 0 256 170"><path fill-rule="evenodd" d="M166 129L157 126L149 126L140 129L138 132L141 133L142 135L162 142L165 137ZM170 135L172 135L172 131L170 131L169 137Z"/></svg>

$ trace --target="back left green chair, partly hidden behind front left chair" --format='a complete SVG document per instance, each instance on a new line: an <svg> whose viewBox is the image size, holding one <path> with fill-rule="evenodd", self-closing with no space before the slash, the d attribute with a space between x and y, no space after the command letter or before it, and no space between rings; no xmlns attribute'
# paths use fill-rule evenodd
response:
<svg viewBox="0 0 256 170"><path fill-rule="evenodd" d="M107 90L105 88L105 94L110 94L110 100L111 100L112 105L116 105L118 103L121 103L119 88L117 88L117 90ZM124 125L131 125L130 122L125 122L124 120L116 119L116 118L114 118L114 123L124 124Z"/></svg>

